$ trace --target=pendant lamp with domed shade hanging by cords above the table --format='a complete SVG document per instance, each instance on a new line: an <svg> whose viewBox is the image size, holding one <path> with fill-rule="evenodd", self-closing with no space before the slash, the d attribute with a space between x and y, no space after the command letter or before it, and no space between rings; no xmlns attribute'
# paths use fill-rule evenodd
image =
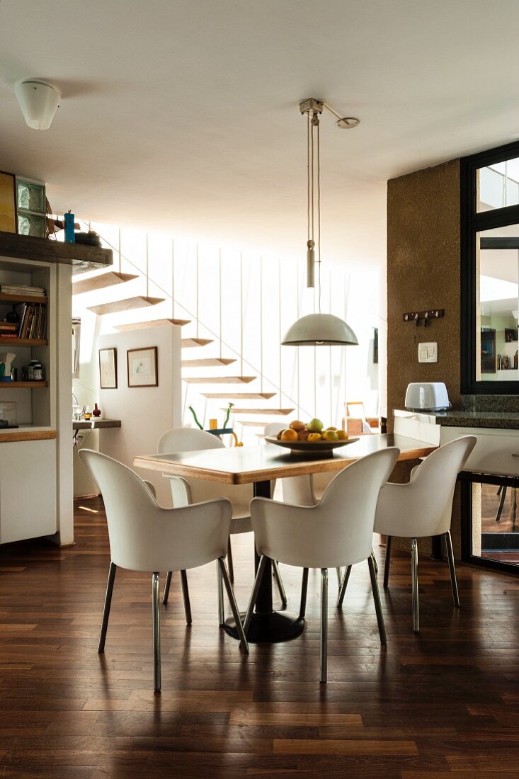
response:
<svg viewBox="0 0 519 779"><path fill-rule="evenodd" d="M307 241L306 286L315 287L316 263L318 266L319 313L307 314L288 328L283 346L356 346L358 340L351 327L333 314L321 313L321 161L320 115L327 108L337 118L337 127L351 129L359 120L341 117L323 100L309 97L299 104L299 111L306 115L306 164L307 175ZM317 240L316 240L317 239ZM317 259L316 259L317 247Z"/></svg>

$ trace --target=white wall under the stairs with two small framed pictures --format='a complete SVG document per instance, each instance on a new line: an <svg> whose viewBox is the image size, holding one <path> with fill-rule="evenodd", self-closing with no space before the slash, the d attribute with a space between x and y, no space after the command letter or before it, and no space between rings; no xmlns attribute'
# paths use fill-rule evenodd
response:
<svg viewBox="0 0 519 779"><path fill-rule="evenodd" d="M97 347L117 349L117 390L99 390L99 404L104 417L120 419L121 428L99 431L99 450L115 460L133 467L137 454L157 452L162 433L181 424L180 327L153 327L107 333L97 340ZM128 387L126 351L157 347L158 386ZM157 499L171 505L169 481L154 471L138 471L152 481Z"/></svg>

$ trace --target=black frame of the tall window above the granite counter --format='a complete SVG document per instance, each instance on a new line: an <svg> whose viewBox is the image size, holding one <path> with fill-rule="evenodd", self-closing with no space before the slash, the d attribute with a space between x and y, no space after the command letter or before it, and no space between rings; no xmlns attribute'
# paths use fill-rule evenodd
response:
<svg viewBox="0 0 519 779"><path fill-rule="evenodd" d="M476 381L476 234L519 224L519 205L476 212L476 171L519 157L519 141L462 157L461 175L461 394L517 395L519 381Z"/></svg>

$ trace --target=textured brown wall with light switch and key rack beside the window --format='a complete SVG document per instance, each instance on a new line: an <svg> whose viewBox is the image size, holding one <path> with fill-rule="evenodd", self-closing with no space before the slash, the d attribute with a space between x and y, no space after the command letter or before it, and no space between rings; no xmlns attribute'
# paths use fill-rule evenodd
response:
<svg viewBox="0 0 519 779"><path fill-rule="evenodd" d="M405 312L444 308L428 328ZM436 341L438 362L418 363ZM460 401L460 163L452 160L387 182L387 411L404 407L409 382L442 381Z"/></svg>

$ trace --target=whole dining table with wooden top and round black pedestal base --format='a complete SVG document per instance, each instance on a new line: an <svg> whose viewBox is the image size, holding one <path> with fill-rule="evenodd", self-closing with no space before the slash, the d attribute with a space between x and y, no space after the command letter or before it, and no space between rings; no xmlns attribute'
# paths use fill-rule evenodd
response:
<svg viewBox="0 0 519 779"><path fill-rule="evenodd" d="M199 478L216 481L221 485L252 484L254 497L271 498L272 482L278 478L304 476L306 474L337 473L380 449L396 446L400 449L398 460L418 460L429 455L437 446L404 435L362 435L347 446L334 449L328 456L296 455L275 444L238 446L225 449L203 449L196 452L138 455L133 465L150 471L160 471L166 477ZM222 491L224 494L224 490ZM345 521L348 509L345 507ZM254 553L255 570L260 562ZM247 633L251 643L277 643L294 638L301 633L305 620L287 612L275 611L272 601L272 563L267 560L256 608ZM224 623L224 629L238 639L234 619Z"/></svg>

